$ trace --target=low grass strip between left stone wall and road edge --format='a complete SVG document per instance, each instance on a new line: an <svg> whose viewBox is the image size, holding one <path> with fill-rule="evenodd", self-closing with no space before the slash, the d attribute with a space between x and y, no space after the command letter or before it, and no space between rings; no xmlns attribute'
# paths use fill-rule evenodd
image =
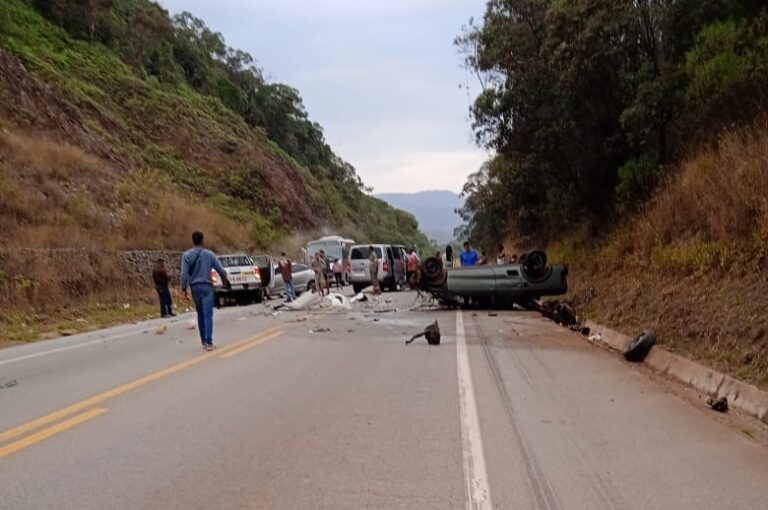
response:
<svg viewBox="0 0 768 510"><path fill-rule="evenodd" d="M50 314L11 313L0 316L0 348L58 336L102 329L157 317L157 307L146 301L94 304Z"/></svg>

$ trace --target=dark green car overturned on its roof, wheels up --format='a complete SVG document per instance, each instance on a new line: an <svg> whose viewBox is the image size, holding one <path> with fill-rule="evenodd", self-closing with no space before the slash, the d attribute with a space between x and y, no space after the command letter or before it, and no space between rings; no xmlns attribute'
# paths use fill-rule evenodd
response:
<svg viewBox="0 0 768 510"><path fill-rule="evenodd" d="M568 267L550 265L541 250L520 256L516 264L446 268L431 257L424 261L415 286L443 304L511 308L515 304L535 308L542 296L568 292Z"/></svg>

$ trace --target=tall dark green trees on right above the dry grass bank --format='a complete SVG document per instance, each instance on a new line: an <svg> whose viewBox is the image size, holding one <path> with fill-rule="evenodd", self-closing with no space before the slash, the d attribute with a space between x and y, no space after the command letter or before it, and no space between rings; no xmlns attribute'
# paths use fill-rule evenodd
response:
<svg viewBox="0 0 768 510"><path fill-rule="evenodd" d="M768 105L768 10L754 0L490 0L457 39L483 81L466 185L473 237L599 237L692 147Z"/></svg>

